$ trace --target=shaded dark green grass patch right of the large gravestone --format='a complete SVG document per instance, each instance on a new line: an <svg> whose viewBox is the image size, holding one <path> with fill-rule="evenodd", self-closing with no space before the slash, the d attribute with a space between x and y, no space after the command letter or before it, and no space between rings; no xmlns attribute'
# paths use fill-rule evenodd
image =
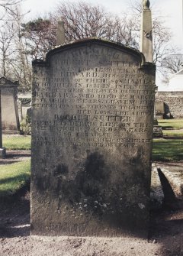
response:
<svg viewBox="0 0 183 256"><path fill-rule="evenodd" d="M152 160L183 160L183 140L153 139Z"/></svg>

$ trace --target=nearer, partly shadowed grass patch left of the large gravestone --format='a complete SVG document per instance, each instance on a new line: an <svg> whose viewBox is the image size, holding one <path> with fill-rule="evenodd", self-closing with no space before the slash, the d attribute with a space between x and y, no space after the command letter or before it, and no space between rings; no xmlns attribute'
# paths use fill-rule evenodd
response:
<svg viewBox="0 0 183 256"><path fill-rule="evenodd" d="M30 160L1 165L0 198L14 195L30 179Z"/></svg>

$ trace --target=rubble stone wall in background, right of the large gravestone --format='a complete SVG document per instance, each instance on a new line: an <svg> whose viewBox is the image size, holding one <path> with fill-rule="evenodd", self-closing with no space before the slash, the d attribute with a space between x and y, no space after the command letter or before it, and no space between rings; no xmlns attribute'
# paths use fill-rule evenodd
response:
<svg viewBox="0 0 183 256"><path fill-rule="evenodd" d="M173 118L183 118L183 92L157 92L156 103L164 102L165 113Z"/></svg>

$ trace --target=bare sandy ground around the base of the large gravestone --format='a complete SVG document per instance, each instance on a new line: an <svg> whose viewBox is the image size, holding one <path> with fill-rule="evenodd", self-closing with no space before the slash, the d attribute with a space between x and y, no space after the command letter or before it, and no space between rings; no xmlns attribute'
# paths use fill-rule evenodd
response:
<svg viewBox="0 0 183 256"><path fill-rule="evenodd" d="M0 204L2 256L182 256L183 199L151 213L149 240L30 237L29 187Z"/></svg>

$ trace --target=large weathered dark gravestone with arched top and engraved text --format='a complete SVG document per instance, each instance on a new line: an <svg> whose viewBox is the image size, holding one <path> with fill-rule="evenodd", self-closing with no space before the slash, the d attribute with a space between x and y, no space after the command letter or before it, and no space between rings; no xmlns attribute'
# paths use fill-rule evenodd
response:
<svg viewBox="0 0 183 256"><path fill-rule="evenodd" d="M147 234L155 67L90 39L33 65L32 235Z"/></svg>

